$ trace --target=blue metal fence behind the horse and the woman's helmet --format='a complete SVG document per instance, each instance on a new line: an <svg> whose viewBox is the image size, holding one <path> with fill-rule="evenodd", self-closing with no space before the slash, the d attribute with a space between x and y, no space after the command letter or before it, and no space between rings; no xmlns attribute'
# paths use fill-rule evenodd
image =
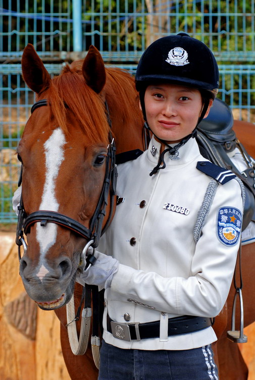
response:
<svg viewBox="0 0 255 380"><path fill-rule="evenodd" d="M16 222L11 198L19 164L15 149L34 94L20 60L32 43L49 73L83 58L95 45L106 63L135 72L155 39L185 31L213 50L219 96L235 119L255 120L254 2L237 0L0 0L0 223Z"/></svg>

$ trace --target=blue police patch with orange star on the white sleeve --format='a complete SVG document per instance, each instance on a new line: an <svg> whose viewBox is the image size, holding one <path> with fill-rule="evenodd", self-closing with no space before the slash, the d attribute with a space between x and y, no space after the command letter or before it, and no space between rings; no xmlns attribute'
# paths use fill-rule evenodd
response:
<svg viewBox="0 0 255 380"><path fill-rule="evenodd" d="M241 233L242 213L235 207L221 207L218 213L218 239L225 245L237 243Z"/></svg>

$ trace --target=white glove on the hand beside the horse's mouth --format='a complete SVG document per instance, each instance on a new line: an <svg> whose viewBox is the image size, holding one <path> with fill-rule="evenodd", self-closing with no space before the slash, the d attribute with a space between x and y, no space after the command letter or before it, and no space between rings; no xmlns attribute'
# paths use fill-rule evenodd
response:
<svg viewBox="0 0 255 380"><path fill-rule="evenodd" d="M89 250L89 253L91 251ZM94 257L96 262L82 273L77 274L76 281L83 285L98 285L100 289L107 289L111 286L113 275L119 269L119 261L112 256L107 256L104 253L95 251Z"/></svg>

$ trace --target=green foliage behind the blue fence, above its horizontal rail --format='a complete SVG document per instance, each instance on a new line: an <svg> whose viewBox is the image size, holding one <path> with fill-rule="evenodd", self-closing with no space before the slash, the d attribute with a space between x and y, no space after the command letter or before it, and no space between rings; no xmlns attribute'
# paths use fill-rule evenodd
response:
<svg viewBox="0 0 255 380"><path fill-rule="evenodd" d="M153 12L148 15L146 4ZM71 0L6 2L9 11L30 17L3 16L3 50L16 51L27 42L42 50L72 50ZM102 50L141 50L151 28L148 18L157 23L161 10L167 18L160 33L184 30L201 38L214 51L254 50L254 2L220 0L90 0L82 3L84 46L91 41ZM69 20L68 22L64 21ZM153 21L152 21L153 22ZM8 33L18 31L10 37ZM11 42L11 45L10 45ZM10 48L11 47L11 48Z"/></svg>

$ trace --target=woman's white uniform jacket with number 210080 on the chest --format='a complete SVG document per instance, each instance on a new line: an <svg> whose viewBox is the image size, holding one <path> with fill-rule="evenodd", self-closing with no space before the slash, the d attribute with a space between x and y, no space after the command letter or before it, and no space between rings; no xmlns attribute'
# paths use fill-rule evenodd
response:
<svg viewBox="0 0 255 380"><path fill-rule="evenodd" d="M148 150L118 166L117 194L125 200L117 205L98 247L120 261L111 287L105 291L103 321L105 341L120 348L182 350L216 341L212 327L168 337L167 321L180 315L214 317L221 311L239 247L239 238L226 245L218 235L220 209L242 214L238 182L233 179L218 186L196 244L197 212L212 180L198 171L196 164L206 159L195 139L190 139L179 149L179 159L171 160L166 153L166 168L150 177L160 147L152 137ZM179 212L166 204L179 206ZM118 323L124 323L127 314L129 323L160 320L160 338L130 342L115 338L107 331L107 313Z"/></svg>

